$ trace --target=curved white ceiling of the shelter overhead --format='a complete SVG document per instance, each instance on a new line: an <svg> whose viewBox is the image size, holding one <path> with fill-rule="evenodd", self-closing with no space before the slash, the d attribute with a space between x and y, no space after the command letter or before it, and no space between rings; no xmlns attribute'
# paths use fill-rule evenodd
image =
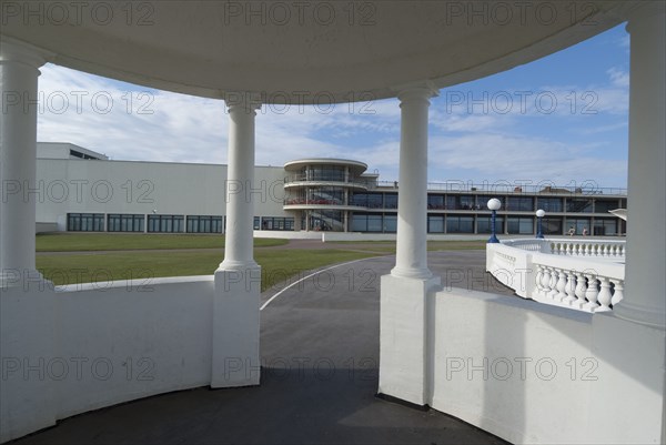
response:
<svg viewBox="0 0 666 445"><path fill-rule="evenodd" d="M597 34L636 6L589 0L11 4L14 9L2 11L2 37L49 51L54 63L211 98L254 91L274 103L373 100L414 81L443 88L473 80Z"/></svg>

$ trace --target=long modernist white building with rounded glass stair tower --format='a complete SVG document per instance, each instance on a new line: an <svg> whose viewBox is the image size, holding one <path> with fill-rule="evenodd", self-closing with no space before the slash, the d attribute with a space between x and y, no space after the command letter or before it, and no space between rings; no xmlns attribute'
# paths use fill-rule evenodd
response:
<svg viewBox="0 0 666 445"><path fill-rule="evenodd" d="M254 198L256 231L397 230L400 184L381 181L361 161L303 159L284 168L255 166L252 190L229 183L226 165L109 161L64 143L39 143L37 169L40 232L222 233L229 193ZM578 235L626 232L624 222L608 213L626 209L623 189L450 182L428 183L427 233L491 233L491 198L503 203L496 230L507 235L536 234L537 209L547 212L546 235L566 234L571 227Z"/></svg>

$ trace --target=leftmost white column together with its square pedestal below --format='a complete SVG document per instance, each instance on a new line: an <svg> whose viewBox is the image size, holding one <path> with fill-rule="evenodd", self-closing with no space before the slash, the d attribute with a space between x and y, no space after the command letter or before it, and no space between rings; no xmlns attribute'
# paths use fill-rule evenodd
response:
<svg viewBox="0 0 666 445"><path fill-rule="evenodd" d="M57 313L53 287L34 269L38 69L44 58L8 40L0 39L0 352L34 364L54 354ZM50 378L0 378L0 443L56 424L53 387Z"/></svg>

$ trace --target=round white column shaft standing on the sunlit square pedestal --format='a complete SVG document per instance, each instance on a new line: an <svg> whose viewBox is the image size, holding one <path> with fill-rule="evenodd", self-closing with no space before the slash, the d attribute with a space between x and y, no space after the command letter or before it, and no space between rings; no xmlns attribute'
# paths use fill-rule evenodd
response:
<svg viewBox="0 0 666 445"><path fill-rule="evenodd" d="M427 115L430 84L403 89L401 108L400 189L397 192L397 243L393 276L428 279L427 222Z"/></svg>

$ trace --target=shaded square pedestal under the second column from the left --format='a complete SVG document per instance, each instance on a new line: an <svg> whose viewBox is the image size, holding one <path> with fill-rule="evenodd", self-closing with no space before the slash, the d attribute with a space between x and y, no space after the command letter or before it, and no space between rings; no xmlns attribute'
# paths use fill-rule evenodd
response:
<svg viewBox="0 0 666 445"><path fill-rule="evenodd" d="M211 387L259 385L261 267L215 271Z"/></svg>

